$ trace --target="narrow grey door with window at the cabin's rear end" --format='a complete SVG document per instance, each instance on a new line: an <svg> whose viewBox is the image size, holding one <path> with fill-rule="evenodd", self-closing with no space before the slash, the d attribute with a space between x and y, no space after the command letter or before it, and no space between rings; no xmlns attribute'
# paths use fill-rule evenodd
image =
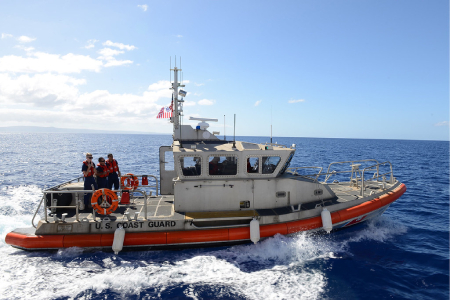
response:
<svg viewBox="0 0 450 300"><path fill-rule="evenodd" d="M173 178L177 177L170 146L159 147L159 178L161 195L173 195Z"/></svg>

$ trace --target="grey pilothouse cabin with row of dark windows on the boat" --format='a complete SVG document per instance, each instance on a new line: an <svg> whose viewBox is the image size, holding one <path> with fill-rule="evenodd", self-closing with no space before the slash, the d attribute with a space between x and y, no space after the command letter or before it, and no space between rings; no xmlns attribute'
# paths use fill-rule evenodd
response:
<svg viewBox="0 0 450 300"><path fill-rule="evenodd" d="M317 200L317 190L322 199L335 197L321 184L285 173L294 145L223 141L206 128L188 125L175 136L171 147L161 147L160 170L161 191L174 195L177 212L290 207ZM208 139L196 139L201 136ZM164 166L166 151L173 155L173 170Z"/></svg>

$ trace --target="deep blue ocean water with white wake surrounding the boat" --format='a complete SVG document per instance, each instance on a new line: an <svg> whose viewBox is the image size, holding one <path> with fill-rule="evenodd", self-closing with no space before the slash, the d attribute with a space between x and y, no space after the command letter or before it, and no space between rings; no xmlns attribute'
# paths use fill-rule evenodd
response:
<svg viewBox="0 0 450 300"><path fill-rule="evenodd" d="M238 140L267 142L264 137ZM448 142L274 138L291 166L390 161L407 192L378 219L330 235L256 245L26 252L6 234L31 226L42 189L78 177L85 152L122 172L158 175L166 135L0 134L0 299L448 299Z"/></svg>

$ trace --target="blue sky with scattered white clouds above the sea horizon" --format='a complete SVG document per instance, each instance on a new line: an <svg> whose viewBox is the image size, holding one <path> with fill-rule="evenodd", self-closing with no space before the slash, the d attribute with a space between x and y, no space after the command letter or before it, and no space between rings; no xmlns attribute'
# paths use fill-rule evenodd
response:
<svg viewBox="0 0 450 300"><path fill-rule="evenodd" d="M0 126L449 139L448 1L2 1ZM179 61L177 61L177 65Z"/></svg>

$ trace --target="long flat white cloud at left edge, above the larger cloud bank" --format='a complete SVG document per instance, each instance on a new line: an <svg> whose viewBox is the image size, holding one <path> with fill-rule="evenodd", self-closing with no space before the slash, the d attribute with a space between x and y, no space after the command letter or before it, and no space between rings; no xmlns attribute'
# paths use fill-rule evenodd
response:
<svg viewBox="0 0 450 300"><path fill-rule="evenodd" d="M69 53L66 55L44 52L27 53L28 57L6 55L0 57L0 72L12 73L80 73L99 72L103 63L90 56Z"/></svg>

